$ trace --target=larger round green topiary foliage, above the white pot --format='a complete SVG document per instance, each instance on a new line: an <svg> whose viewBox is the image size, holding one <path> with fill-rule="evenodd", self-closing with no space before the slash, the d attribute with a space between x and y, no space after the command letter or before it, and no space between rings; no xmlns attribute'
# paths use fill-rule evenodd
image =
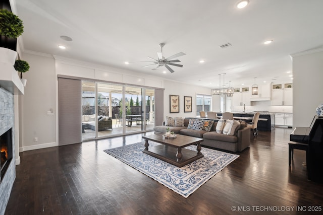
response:
<svg viewBox="0 0 323 215"><path fill-rule="evenodd" d="M6 9L0 9L0 35L17 38L24 32L24 26L18 16Z"/></svg>

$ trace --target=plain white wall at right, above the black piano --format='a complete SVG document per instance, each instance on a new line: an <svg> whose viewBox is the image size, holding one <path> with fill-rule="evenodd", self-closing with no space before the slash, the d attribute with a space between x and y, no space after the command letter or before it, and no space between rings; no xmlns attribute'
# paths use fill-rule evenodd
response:
<svg viewBox="0 0 323 215"><path fill-rule="evenodd" d="M293 54L293 126L308 127L323 104L323 49Z"/></svg>

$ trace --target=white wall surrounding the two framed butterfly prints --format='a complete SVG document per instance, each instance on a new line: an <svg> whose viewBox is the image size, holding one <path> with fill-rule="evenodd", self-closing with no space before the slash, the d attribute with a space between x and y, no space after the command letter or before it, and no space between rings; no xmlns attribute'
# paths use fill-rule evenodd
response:
<svg viewBox="0 0 323 215"><path fill-rule="evenodd" d="M172 117L196 117L196 94L210 95L211 90L209 88L198 87L194 85L188 85L180 82L173 82L164 80L164 118L166 116ZM180 112L170 113L170 95L180 96ZM184 96L192 97L192 112L184 113Z"/></svg>

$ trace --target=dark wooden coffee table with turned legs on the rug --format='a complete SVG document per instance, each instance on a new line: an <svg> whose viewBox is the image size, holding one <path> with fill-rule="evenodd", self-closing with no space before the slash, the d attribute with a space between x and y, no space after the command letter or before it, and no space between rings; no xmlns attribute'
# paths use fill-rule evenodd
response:
<svg viewBox="0 0 323 215"><path fill-rule="evenodd" d="M178 167L183 167L199 158L204 157L201 153L202 138L176 134L176 138L165 138L163 133L143 136L145 149L142 151L152 157L166 161ZM149 147L148 140L158 142L161 145ZM185 147L197 145L196 151L183 149Z"/></svg>

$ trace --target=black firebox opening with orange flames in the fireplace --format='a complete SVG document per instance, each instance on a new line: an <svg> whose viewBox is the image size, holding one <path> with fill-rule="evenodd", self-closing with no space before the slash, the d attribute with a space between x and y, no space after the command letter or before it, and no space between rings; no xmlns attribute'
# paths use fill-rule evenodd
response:
<svg viewBox="0 0 323 215"><path fill-rule="evenodd" d="M0 136L0 152L1 152L1 180L12 160L12 128Z"/></svg>

